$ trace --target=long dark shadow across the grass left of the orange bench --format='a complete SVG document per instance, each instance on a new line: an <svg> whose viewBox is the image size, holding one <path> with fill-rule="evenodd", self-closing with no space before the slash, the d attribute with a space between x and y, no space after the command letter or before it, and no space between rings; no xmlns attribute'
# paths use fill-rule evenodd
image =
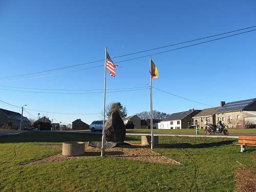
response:
<svg viewBox="0 0 256 192"><path fill-rule="evenodd" d="M212 143L170 143L170 144L158 144L155 148L207 148L207 147L215 147L221 145L228 145L234 143L234 140L220 141L220 142L212 142Z"/></svg>

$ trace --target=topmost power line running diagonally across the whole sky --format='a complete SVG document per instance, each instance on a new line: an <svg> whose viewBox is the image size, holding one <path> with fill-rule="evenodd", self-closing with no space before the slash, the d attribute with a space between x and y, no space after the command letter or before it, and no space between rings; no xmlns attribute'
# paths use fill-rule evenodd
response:
<svg viewBox="0 0 256 192"><path fill-rule="evenodd" d="M130 55L134 55L134 54L139 54L139 53L143 53L143 52L148 52L148 51L154 51L157 49L163 49L166 47L171 47L171 46L176 46L176 45L181 45L181 44L185 44L188 42L193 42L193 41L197 41L197 40L202 40L202 39L206 39L206 38L211 38L211 37L215 37L215 36L220 36L220 35L224 35L224 34L228 34L228 33L233 33L233 32L237 32L237 31L242 31L242 30L246 30L246 29L251 29L254 28L256 26L251 26L251 27L247 27L247 28L243 28L243 29L238 29L238 30L233 30L233 31L228 31L225 33L219 33L216 35L210 35L210 36L206 36L206 37L202 37L202 38L197 38L197 39L192 39L192 40L188 40L188 41L183 41L183 42L179 42L177 44L172 44L172 45L167 45L167 46L162 46L162 47L157 47L157 48L153 48L153 49L148 49L148 50L144 50L144 51L138 51L138 52L134 52L134 53L130 53L130 54L125 54L125 55L119 55L113 58L119 58L119 57L124 57L124 56L130 56ZM254 31L254 30L250 30L250 31ZM250 32L247 31L247 32ZM246 33L246 32L243 32ZM242 34L242 33L239 33ZM235 34L236 35L236 34ZM233 35L230 35L233 36ZM229 36L228 36L229 37ZM226 38L226 37L225 37ZM221 39L221 38L218 38ZM198 45L198 44L197 44ZM181 48L180 48L181 49ZM159 53L158 53L159 54ZM153 54L152 54L153 55ZM141 58L141 57L139 57ZM12 77L20 77L20 76L26 76L26 75L33 75L33 74L38 74L38 73L44 73L44 72L50 72L50 71L56 71L56 70L61 70L61 69L67 69L67 68L73 68L73 67L77 67L77 66L82 66L82 65L89 65L92 63L96 63L96 62L100 62L100 61L104 61L104 59L99 59L99 60L95 60L95 61L91 61L91 62L86 62L86 63L80 63L77 65L72 65L72 66L66 66L66 67L60 67L60 68L55 68L55 69L50 69L50 70L44 70L44 71L37 71L37 72L32 72L32 73L26 73L26 74L21 74L21 75L13 75L13 76L7 76L7 77L1 77L0 79L5 79L5 78L12 78Z"/></svg>

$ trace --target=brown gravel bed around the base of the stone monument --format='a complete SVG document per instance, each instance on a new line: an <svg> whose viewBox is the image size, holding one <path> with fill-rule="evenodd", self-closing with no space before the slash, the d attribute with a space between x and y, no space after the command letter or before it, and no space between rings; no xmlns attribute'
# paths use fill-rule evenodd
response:
<svg viewBox="0 0 256 192"><path fill-rule="evenodd" d="M62 145L42 145L42 146L48 146L51 148L62 150ZM99 157L100 151L101 151L100 148L86 145L85 153L83 156L69 157L69 156L62 156L61 154L57 154L57 155L49 156L37 161L27 163L26 165ZM162 156L150 150L150 148L147 148L145 146L140 146L137 144L123 145L121 147L106 149L105 156L106 158L114 157L114 158L123 158L123 159L130 159L130 160L136 160L136 161L147 161L152 163L182 165L177 161L174 161L170 158L167 158L165 156Z"/></svg>

